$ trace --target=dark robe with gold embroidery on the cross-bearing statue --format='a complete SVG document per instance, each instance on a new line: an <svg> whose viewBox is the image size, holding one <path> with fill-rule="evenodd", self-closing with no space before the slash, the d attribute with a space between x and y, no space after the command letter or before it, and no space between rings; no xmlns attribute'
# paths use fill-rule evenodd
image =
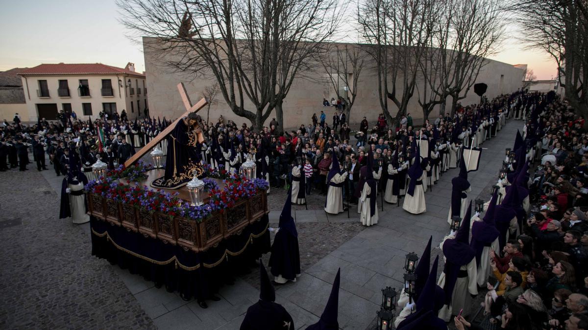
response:
<svg viewBox="0 0 588 330"><path fill-rule="evenodd" d="M200 163L200 146L194 146L198 135L188 130L180 120L168 136L168 154L165 159L165 176L151 183L155 188L175 189L192 180L193 172L200 177L204 173Z"/></svg>

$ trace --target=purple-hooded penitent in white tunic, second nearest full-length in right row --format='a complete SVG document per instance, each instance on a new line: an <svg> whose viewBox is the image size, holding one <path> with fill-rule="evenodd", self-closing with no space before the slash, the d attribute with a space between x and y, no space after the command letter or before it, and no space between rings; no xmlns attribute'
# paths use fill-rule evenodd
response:
<svg viewBox="0 0 588 330"><path fill-rule="evenodd" d="M488 282L488 277L492 272L490 249L500 251L498 244L499 231L496 229L494 221L497 199L498 191L495 191L492 199L490 199L484 218L480 220L479 217L475 216L476 220L472 223L472 242L470 245L476 251L477 284L480 287Z"/></svg>

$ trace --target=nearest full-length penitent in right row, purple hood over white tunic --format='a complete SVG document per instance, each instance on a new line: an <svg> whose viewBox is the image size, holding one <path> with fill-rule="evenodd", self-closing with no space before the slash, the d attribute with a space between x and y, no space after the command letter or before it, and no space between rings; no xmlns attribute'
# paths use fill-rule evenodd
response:
<svg viewBox="0 0 588 330"><path fill-rule="evenodd" d="M445 267L437 284L445 291L445 305L439 312L439 317L446 322L449 322L452 315L459 314L462 308L463 315L469 315L470 294L477 295L476 251L469 243L471 216L470 202L457 233L446 236L441 243Z"/></svg>

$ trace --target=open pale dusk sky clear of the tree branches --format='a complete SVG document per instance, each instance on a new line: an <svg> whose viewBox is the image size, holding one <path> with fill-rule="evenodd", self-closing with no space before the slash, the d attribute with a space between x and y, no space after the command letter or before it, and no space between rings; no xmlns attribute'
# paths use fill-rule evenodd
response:
<svg viewBox="0 0 588 330"><path fill-rule="evenodd" d="M0 14L0 71L41 63L105 63L145 70L142 46L126 37L114 0L3 2ZM26 23L25 23L26 22ZM512 29L509 29L512 30ZM537 79L552 79L556 64L546 53L524 50L507 39L492 59L527 64Z"/></svg>

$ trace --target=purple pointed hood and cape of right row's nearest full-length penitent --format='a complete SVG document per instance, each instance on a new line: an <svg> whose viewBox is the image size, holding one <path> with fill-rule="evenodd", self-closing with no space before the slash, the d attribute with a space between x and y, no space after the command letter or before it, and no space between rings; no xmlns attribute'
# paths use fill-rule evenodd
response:
<svg viewBox="0 0 588 330"><path fill-rule="evenodd" d="M476 251L470 247L470 218L472 217L472 202L467 208L466 215L463 217L462 224L457 230L455 238L448 238L443 243L443 255L445 255L445 304L451 304L453 288L457 281L459 268L469 264L476 257Z"/></svg>

